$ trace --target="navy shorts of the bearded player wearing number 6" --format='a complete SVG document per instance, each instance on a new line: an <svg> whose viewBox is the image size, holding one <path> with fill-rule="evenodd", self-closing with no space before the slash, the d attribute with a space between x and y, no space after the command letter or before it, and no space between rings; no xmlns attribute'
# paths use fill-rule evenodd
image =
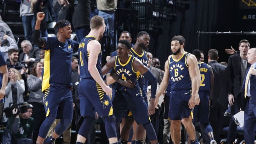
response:
<svg viewBox="0 0 256 144"><path fill-rule="evenodd" d="M193 109L188 107L191 90L177 90L170 92L169 118L170 120L181 120L192 116Z"/></svg>

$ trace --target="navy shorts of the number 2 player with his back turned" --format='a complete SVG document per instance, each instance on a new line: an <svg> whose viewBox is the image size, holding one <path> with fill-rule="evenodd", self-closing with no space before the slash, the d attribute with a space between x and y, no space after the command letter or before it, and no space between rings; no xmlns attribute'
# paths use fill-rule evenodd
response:
<svg viewBox="0 0 256 144"><path fill-rule="evenodd" d="M194 107L193 122L209 124L209 92L199 91L200 103Z"/></svg>

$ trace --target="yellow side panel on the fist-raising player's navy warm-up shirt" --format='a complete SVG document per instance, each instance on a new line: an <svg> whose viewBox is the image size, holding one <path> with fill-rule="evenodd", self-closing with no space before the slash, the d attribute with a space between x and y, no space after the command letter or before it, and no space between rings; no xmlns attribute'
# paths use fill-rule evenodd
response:
<svg viewBox="0 0 256 144"><path fill-rule="evenodd" d="M42 80L42 92L50 86L50 50L44 52L44 74Z"/></svg>

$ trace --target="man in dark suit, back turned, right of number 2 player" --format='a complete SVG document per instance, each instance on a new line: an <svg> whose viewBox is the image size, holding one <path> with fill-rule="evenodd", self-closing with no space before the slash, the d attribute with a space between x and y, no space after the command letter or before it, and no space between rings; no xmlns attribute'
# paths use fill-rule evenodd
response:
<svg viewBox="0 0 256 144"><path fill-rule="evenodd" d="M213 97L210 102L209 121L217 144L220 143L220 133L222 131L224 113L228 108L227 96L230 89L226 66L219 64L217 62L218 58L218 51L210 49L208 52L208 64L213 68L214 85Z"/></svg>

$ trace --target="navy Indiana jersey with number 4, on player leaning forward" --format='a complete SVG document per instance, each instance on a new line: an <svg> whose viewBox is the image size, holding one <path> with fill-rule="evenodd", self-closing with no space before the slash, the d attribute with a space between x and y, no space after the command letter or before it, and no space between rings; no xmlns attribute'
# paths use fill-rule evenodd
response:
<svg viewBox="0 0 256 144"><path fill-rule="evenodd" d="M114 70L116 71L119 78L121 78L122 80L131 80L133 83L135 82L137 83L136 85L138 85L137 81L139 79L140 72L133 70L132 64L134 59L135 57L129 55L129 59L127 60L127 62L125 64L122 64L120 62L120 59L116 56Z"/></svg>

